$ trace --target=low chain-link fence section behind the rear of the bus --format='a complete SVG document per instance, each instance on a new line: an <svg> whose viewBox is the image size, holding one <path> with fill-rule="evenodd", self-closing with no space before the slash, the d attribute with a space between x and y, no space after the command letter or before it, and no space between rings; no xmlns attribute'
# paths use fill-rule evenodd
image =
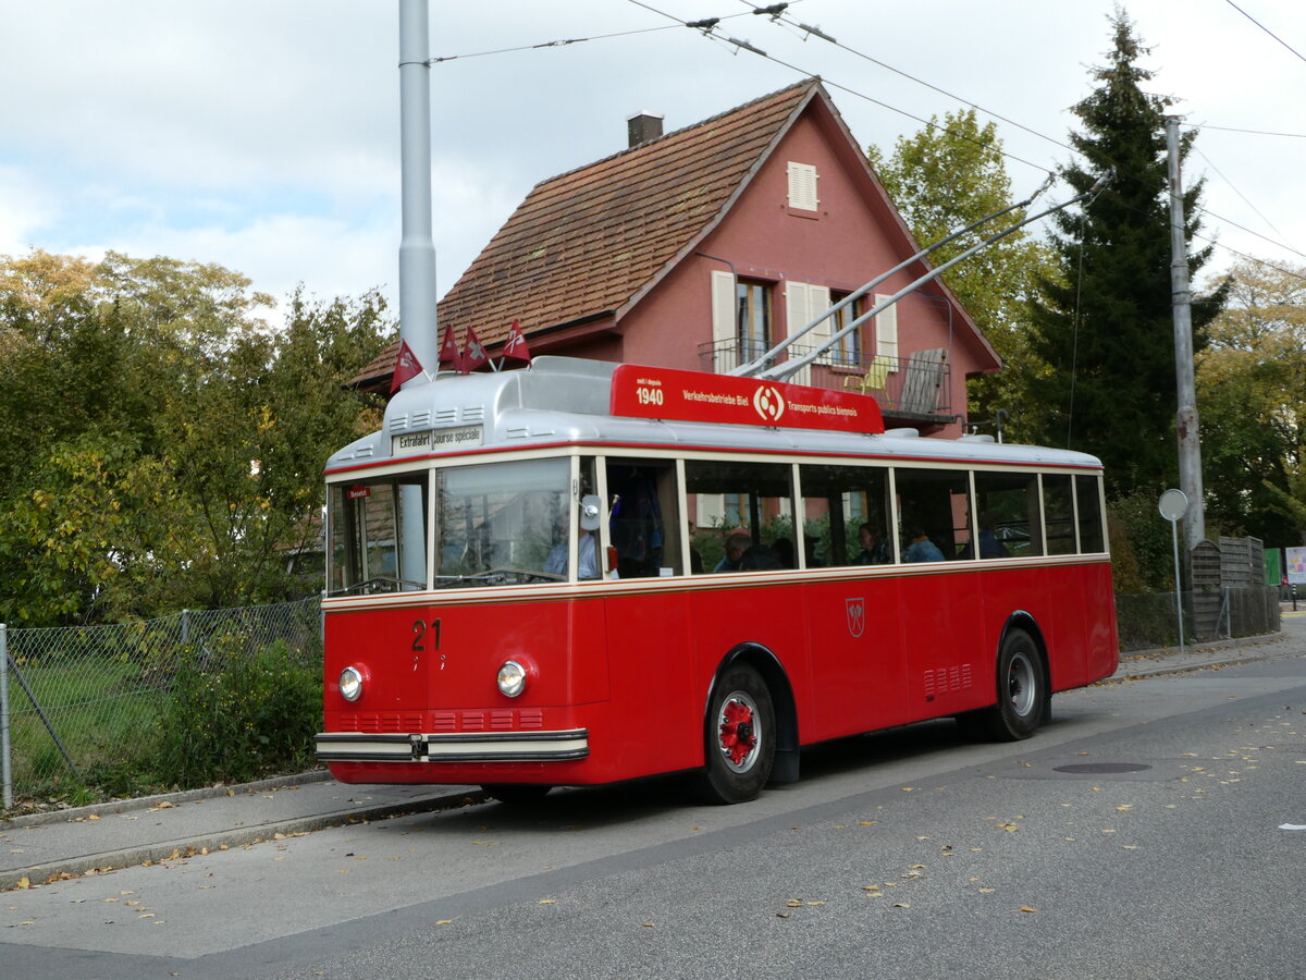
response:
<svg viewBox="0 0 1306 980"><path fill-rule="evenodd" d="M1181 592L1179 600L1186 644L1280 630L1279 589L1273 585ZM1179 610L1173 592L1115 596L1115 622L1122 651L1179 643Z"/></svg>

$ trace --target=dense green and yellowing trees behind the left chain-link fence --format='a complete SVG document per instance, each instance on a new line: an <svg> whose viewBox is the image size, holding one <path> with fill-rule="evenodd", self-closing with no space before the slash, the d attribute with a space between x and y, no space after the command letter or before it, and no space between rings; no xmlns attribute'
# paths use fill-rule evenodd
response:
<svg viewBox="0 0 1306 980"><path fill-rule="evenodd" d="M304 595L321 464L376 418L347 382L377 294L272 298L219 265L0 257L0 621ZM371 414L370 414L371 413Z"/></svg>

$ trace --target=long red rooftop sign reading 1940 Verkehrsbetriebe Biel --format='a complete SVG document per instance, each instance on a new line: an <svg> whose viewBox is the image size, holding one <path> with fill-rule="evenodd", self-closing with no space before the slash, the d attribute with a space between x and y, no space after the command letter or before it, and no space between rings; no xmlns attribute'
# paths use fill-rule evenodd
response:
<svg viewBox="0 0 1306 980"><path fill-rule="evenodd" d="M610 410L684 422L884 431L879 402L870 395L644 365L619 365L613 372Z"/></svg>

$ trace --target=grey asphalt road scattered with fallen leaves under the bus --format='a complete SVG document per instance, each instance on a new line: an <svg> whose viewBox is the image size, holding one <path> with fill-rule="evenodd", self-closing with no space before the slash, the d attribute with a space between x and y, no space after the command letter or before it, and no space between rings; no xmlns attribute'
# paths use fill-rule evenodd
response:
<svg viewBox="0 0 1306 980"><path fill-rule="evenodd" d="M1306 975L1306 657L930 723L704 808L555 792L0 894L3 977Z"/></svg>

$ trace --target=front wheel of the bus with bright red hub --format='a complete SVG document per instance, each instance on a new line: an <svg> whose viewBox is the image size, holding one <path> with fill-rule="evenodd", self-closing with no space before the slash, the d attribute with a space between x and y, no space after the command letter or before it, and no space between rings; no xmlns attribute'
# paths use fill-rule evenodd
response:
<svg viewBox="0 0 1306 980"><path fill-rule="evenodd" d="M776 760L776 710L751 666L726 669L712 689L704 721L705 764L699 796L710 804L755 800Z"/></svg>

